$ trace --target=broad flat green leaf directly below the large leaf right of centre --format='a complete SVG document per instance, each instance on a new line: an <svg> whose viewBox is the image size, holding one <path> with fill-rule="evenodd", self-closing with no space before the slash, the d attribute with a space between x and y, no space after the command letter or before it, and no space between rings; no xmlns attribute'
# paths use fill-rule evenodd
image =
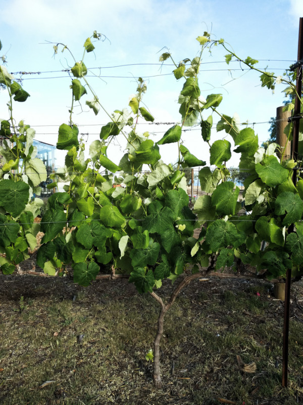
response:
<svg viewBox="0 0 303 405"><path fill-rule="evenodd" d="M238 231L234 224L218 219L208 227L205 240L212 252L217 252L220 248L232 246L238 237Z"/></svg>

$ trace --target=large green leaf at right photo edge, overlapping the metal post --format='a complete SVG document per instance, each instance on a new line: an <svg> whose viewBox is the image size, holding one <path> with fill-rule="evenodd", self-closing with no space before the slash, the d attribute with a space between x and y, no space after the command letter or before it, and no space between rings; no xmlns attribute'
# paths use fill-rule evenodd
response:
<svg viewBox="0 0 303 405"><path fill-rule="evenodd" d="M303 201L298 194L290 191L283 192L277 196L275 203L275 214L284 215L282 225L290 225L293 222L300 221L303 213Z"/></svg>

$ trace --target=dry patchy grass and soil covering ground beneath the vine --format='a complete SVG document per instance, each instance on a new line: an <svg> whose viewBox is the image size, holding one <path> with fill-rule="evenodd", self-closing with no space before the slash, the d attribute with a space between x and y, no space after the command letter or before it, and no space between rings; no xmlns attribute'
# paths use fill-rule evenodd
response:
<svg viewBox="0 0 303 405"><path fill-rule="evenodd" d="M16 293L2 288L0 294L2 405L303 401L303 315L296 308L290 320L289 388L282 389L283 306L262 285L192 282L165 317L164 386L156 390L145 359L159 311L152 297L125 281L84 289L62 279L35 279L38 286L31 289L32 281L10 282ZM165 300L170 291L165 286ZM243 372L237 355L257 370ZM53 382L39 388L46 381Z"/></svg>

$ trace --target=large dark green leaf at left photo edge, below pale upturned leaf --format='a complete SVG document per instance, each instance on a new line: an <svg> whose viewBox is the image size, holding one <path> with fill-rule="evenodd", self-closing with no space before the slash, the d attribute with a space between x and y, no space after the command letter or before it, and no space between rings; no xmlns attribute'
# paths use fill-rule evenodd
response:
<svg viewBox="0 0 303 405"><path fill-rule="evenodd" d="M25 209L29 198L29 185L23 181L0 181L0 206L17 217Z"/></svg>

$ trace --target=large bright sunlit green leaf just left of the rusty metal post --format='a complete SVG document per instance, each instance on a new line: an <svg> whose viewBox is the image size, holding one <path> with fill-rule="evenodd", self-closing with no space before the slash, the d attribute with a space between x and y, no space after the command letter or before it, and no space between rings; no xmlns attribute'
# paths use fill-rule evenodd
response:
<svg viewBox="0 0 303 405"><path fill-rule="evenodd" d="M283 183L289 175L289 171L282 168L278 159L273 155L266 155L263 159L263 165L257 163L256 172L261 180L270 187Z"/></svg>

